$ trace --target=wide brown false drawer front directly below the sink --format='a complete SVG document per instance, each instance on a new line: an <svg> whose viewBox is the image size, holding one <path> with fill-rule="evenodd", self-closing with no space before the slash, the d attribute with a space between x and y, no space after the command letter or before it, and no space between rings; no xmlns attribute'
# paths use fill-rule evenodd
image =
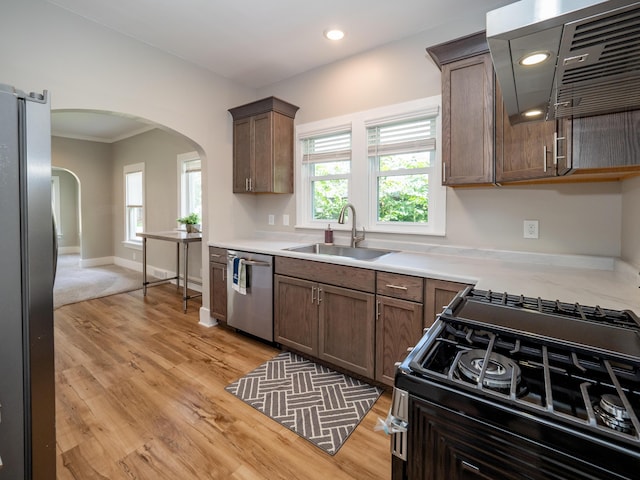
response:
<svg viewBox="0 0 640 480"><path fill-rule="evenodd" d="M334 263L314 262L298 258L276 257L276 273L304 278L338 287L375 292L376 272L366 268L347 267Z"/></svg>

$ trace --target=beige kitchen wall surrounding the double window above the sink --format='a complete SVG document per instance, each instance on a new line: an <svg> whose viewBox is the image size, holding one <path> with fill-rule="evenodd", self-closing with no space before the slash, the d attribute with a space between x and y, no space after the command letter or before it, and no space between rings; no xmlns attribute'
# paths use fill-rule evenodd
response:
<svg viewBox="0 0 640 480"><path fill-rule="evenodd" d="M483 29L483 19L425 32L271 85L276 95L300 106L296 124L366 110L441 91L440 71L426 47ZM474 128L470 125L469 128ZM501 250L619 256L621 184L591 183L534 187L447 190L446 237L412 236L407 241ZM267 218L275 214L276 226ZM261 230L293 231L282 214L295 218L295 197L264 196L254 221ZM523 220L540 222L539 240L523 239ZM309 233L309 232L307 232ZM310 232L313 233L313 232ZM322 232L317 232L318 239ZM385 238L367 234L368 238ZM397 238L397 237L396 237ZM346 241L346 240L345 240Z"/></svg>

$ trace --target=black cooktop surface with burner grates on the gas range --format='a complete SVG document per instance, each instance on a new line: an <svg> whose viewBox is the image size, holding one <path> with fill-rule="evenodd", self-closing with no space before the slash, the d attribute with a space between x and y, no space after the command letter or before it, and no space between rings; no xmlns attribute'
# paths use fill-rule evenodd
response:
<svg viewBox="0 0 640 480"><path fill-rule="evenodd" d="M430 334L430 348L411 363L414 372L560 422L640 443L640 365L545 345L508 332L487 331L449 318L441 318ZM465 365L461 369L465 358L483 359L473 378L464 374ZM509 359L514 365L499 382L488 373L488 366L496 359L503 365ZM613 397L624 407L623 421L601 413L601 399Z"/></svg>

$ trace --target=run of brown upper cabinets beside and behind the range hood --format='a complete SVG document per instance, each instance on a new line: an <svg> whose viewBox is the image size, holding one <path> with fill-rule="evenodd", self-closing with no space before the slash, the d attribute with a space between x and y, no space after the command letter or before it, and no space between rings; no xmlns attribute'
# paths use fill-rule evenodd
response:
<svg viewBox="0 0 640 480"><path fill-rule="evenodd" d="M427 52L442 70L443 185L640 175L640 111L511 125L484 32Z"/></svg>

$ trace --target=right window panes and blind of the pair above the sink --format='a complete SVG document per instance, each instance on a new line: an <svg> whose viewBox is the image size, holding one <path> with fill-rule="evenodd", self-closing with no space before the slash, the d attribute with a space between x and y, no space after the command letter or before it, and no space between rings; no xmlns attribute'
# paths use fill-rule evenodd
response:
<svg viewBox="0 0 640 480"><path fill-rule="evenodd" d="M427 224L435 118L370 126L367 139L375 223Z"/></svg>

